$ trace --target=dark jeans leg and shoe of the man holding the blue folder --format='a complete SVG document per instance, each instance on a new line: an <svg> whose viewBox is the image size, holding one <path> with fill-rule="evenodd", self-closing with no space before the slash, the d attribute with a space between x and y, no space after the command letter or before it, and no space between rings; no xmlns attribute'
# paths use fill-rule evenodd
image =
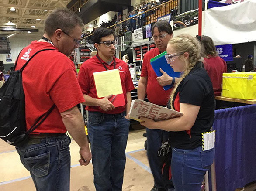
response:
<svg viewBox="0 0 256 191"><path fill-rule="evenodd" d="M168 139L169 132L158 129L146 128L148 146L147 155L149 159L149 166L154 177L154 185L158 188L173 188L173 182L164 181L161 174L160 160L157 151L162 146L162 143Z"/></svg>

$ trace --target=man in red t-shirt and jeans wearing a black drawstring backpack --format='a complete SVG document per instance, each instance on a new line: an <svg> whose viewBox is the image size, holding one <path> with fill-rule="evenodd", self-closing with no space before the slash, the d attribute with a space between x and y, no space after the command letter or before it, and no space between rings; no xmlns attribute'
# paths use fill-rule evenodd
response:
<svg viewBox="0 0 256 191"><path fill-rule="evenodd" d="M74 12L54 10L45 20L42 39L32 41L16 60L16 70L29 61L22 72L27 130L53 108L29 134L28 144L16 147L37 191L69 191L71 140L67 130L80 146L80 164L88 165L92 157L83 117L76 106L85 100L76 68L67 57L79 46L82 27Z"/></svg>

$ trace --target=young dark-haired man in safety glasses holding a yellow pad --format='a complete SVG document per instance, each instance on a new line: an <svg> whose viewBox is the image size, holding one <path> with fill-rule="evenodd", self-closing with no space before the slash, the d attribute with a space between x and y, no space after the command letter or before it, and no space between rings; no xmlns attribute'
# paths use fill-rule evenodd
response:
<svg viewBox="0 0 256 191"><path fill-rule="evenodd" d="M88 135L91 143L94 185L97 191L121 191L125 169L125 148L128 139L131 90L134 85L128 65L115 58L115 35L111 29L97 28L93 36L97 55L80 68L78 82L89 111ZM118 69L125 105L115 107L115 96L97 98L94 72ZM107 81L105 82L107 83Z"/></svg>

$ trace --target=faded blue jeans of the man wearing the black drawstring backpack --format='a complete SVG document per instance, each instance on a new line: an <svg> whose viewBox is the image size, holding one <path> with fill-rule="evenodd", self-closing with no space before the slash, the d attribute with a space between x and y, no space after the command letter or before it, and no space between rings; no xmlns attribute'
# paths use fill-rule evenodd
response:
<svg viewBox="0 0 256 191"><path fill-rule="evenodd" d="M59 134L31 138L27 145L16 147L37 191L69 191L70 143L69 136Z"/></svg>

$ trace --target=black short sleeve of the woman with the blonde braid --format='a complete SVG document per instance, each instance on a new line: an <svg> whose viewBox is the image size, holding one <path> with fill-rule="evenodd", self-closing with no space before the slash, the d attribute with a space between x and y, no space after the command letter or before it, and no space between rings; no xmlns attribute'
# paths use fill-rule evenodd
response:
<svg viewBox="0 0 256 191"><path fill-rule="evenodd" d="M198 76L185 79L180 88L180 103L188 103L195 106L201 106L204 100L206 82Z"/></svg>

